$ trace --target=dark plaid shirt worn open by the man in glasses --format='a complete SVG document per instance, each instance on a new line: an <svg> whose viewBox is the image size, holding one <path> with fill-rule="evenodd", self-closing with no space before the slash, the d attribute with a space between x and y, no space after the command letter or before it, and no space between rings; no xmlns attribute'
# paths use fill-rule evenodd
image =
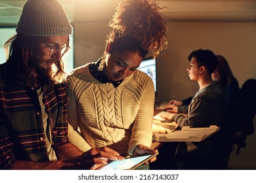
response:
<svg viewBox="0 0 256 183"><path fill-rule="evenodd" d="M0 65L0 169L10 169L15 160L49 161L37 90L17 84L9 68ZM54 149L69 143L66 90L64 84L41 90Z"/></svg>

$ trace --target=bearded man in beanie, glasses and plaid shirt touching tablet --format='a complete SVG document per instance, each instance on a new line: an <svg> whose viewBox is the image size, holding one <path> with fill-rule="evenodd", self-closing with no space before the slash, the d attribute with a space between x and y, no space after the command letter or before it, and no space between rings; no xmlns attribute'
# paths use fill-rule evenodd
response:
<svg viewBox="0 0 256 183"><path fill-rule="evenodd" d="M72 26L56 0L28 0L0 65L0 169L96 169L123 159L68 140L62 56Z"/></svg>

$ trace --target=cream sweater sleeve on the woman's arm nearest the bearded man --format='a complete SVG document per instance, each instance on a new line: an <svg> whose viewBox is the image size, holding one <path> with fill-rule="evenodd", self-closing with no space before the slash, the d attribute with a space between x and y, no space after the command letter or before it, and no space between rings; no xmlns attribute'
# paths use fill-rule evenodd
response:
<svg viewBox="0 0 256 183"><path fill-rule="evenodd" d="M68 95L68 139L70 142L77 146L81 151L86 152L91 149L91 146L81 137L79 127L78 127L78 119L79 114L77 111L77 100L76 95L74 94L73 84L75 80L72 77L68 76L66 80L66 90Z"/></svg>

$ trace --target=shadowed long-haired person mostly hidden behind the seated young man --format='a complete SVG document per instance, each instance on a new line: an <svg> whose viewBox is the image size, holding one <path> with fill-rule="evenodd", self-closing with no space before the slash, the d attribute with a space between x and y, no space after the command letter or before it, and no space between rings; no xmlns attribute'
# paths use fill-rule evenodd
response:
<svg viewBox="0 0 256 183"><path fill-rule="evenodd" d="M240 114L240 106L238 99L240 98L240 87L238 80L233 75L228 61L221 55L217 55L218 65L215 71L211 74L213 80L221 83L226 94L226 108L224 122L220 126L219 131L219 169L226 169L229 162L229 156L232 151L233 139L236 131L239 131L240 122L238 116Z"/></svg>

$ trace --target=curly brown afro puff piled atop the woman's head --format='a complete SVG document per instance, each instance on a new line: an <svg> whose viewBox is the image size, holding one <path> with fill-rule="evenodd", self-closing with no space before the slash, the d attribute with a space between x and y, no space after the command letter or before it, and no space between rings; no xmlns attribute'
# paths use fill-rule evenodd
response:
<svg viewBox="0 0 256 183"><path fill-rule="evenodd" d="M119 3L116 13L110 21L113 31L119 37L131 36L140 42L140 46L152 52L156 57L164 45L167 45L167 28L161 8L148 0L125 0ZM109 37L109 41L114 37Z"/></svg>

